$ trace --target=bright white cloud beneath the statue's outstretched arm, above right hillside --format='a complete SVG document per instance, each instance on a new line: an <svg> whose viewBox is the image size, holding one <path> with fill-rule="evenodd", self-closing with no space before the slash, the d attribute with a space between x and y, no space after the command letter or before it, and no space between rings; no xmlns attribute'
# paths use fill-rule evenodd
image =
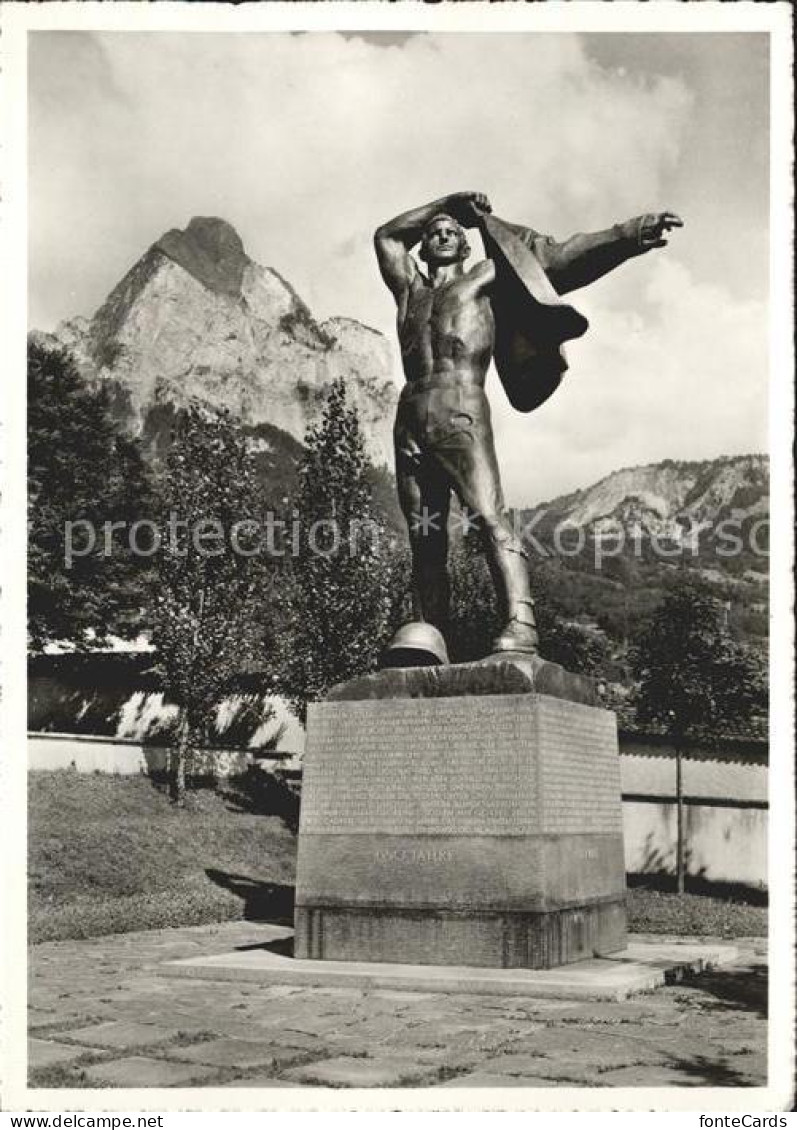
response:
<svg viewBox="0 0 797 1130"><path fill-rule="evenodd" d="M620 467L766 450L765 305L695 282L667 254L572 296L590 329L538 411L513 412L494 382L510 503L549 499Z"/></svg>

